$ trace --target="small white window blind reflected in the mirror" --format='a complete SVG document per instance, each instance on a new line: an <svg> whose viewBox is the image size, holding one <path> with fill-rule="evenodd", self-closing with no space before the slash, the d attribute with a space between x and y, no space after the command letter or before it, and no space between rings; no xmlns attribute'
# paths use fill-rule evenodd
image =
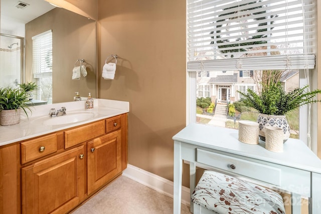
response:
<svg viewBox="0 0 321 214"><path fill-rule="evenodd" d="M32 37L34 78L51 76L52 30Z"/></svg>

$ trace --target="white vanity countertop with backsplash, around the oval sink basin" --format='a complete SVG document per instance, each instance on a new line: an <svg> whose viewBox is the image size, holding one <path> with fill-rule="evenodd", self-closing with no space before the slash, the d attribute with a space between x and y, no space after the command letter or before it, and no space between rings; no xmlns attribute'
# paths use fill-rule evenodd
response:
<svg viewBox="0 0 321 214"><path fill-rule="evenodd" d="M67 115L68 112L90 111L93 112L94 117L80 122L61 125L44 125L41 122L41 118L44 118L44 116L50 118L48 114L51 108L58 110L61 107L66 107ZM129 102L94 99L94 108L90 110L85 109L85 101L39 105L31 107L31 109L32 114L27 110L29 119L25 112L22 111L19 124L0 126L0 146L127 113L129 112Z"/></svg>

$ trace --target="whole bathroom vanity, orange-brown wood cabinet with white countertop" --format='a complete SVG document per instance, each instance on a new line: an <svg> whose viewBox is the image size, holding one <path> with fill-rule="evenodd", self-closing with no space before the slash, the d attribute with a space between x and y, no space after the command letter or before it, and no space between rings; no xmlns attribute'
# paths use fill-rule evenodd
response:
<svg viewBox="0 0 321 214"><path fill-rule="evenodd" d="M0 127L0 213L67 213L126 168L128 102L84 103L63 104L67 121L53 104Z"/></svg>

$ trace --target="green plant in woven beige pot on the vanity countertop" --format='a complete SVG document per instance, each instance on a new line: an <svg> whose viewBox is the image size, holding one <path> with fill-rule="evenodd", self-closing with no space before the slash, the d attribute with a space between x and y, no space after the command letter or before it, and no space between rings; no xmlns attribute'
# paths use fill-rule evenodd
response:
<svg viewBox="0 0 321 214"><path fill-rule="evenodd" d="M30 101L25 90L21 88L0 88L0 125L9 126L20 123L20 112L24 110L27 117L27 109Z"/></svg>

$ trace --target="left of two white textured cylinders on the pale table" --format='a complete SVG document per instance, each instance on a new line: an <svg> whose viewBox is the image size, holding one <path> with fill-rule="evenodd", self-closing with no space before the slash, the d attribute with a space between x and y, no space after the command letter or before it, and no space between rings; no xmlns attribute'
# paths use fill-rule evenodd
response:
<svg viewBox="0 0 321 214"><path fill-rule="evenodd" d="M249 120L239 121L239 141L247 144L259 143L259 124Z"/></svg>

